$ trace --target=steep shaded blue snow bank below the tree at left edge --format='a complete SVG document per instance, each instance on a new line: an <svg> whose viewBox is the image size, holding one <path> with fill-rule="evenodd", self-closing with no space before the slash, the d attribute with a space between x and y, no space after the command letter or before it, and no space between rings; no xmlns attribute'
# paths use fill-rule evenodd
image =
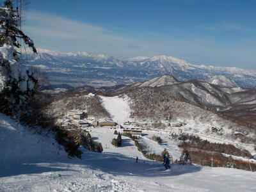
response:
<svg viewBox="0 0 256 192"><path fill-rule="evenodd" d="M38 129L40 131L40 129ZM24 127L17 120L0 113L0 164L27 161L28 159L45 159L66 155L54 140L54 135Z"/></svg>

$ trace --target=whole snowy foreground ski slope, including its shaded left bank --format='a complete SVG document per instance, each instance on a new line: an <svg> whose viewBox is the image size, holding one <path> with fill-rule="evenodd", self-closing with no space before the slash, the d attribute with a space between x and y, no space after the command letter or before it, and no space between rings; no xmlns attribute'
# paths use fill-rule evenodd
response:
<svg viewBox="0 0 256 192"><path fill-rule="evenodd" d="M39 129L38 129L39 130ZM112 131L112 130L111 130ZM53 136L0 114L0 191L255 191L255 172L228 168L134 163L132 141L102 154L70 159ZM110 134L109 134L110 135ZM135 148L135 147L134 147Z"/></svg>

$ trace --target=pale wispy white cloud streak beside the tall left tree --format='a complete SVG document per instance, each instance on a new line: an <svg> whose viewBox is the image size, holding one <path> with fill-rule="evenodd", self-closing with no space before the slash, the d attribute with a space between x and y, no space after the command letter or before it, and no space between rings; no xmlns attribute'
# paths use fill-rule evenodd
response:
<svg viewBox="0 0 256 192"><path fill-rule="evenodd" d="M148 42L134 38L111 35L111 31L66 19L44 12L32 11L24 26L26 32L40 47L55 48L60 51L89 51L111 53L137 52L138 49L148 49Z"/></svg>

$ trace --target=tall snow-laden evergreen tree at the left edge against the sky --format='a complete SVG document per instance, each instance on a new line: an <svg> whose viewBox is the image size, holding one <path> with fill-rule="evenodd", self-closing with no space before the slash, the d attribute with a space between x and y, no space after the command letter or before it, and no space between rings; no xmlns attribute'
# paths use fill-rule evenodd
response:
<svg viewBox="0 0 256 192"><path fill-rule="evenodd" d="M33 41L19 29L20 19L12 1L4 1L0 8L0 111L13 117L24 113L36 83L32 72L20 60L22 40L36 52Z"/></svg>

